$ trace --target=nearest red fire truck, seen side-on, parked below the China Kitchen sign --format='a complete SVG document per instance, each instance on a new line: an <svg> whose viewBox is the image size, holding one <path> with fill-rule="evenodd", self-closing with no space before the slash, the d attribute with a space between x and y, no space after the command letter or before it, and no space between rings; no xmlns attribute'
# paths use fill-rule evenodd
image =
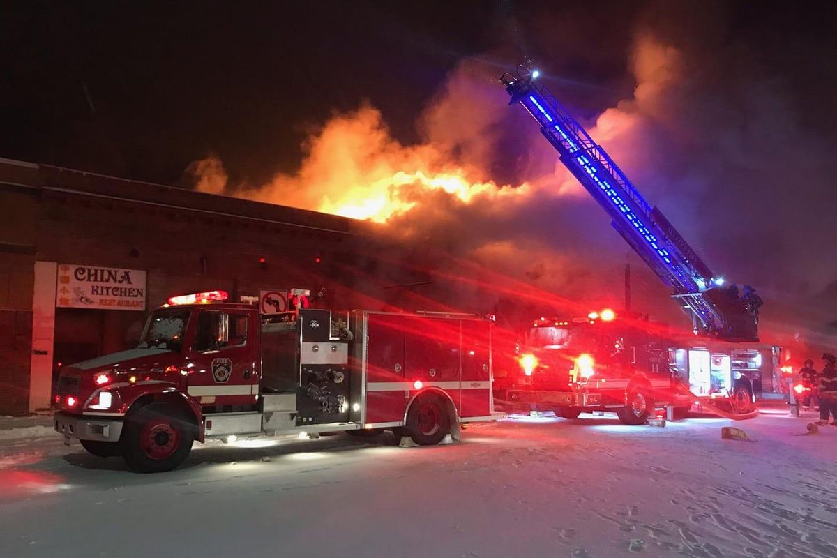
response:
<svg viewBox="0 0 837 558"><path fill-rule="evenodd" d="M491 320L298 309L223 291L173 297L136 349L66 366L54 427L100 457L166 471L208 438L393 430L420 445L490 420Z"/></svg>

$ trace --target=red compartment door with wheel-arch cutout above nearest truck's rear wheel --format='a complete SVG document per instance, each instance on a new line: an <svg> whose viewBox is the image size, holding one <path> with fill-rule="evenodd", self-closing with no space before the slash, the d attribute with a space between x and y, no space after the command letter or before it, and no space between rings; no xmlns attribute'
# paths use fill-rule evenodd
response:
<svg viewBox="0 0 837 558"><path fill-rule="evenodd" d="M448 393L461 415L461 322L442 318L404 318L404 379L416 392L439 387Z"/></svg>

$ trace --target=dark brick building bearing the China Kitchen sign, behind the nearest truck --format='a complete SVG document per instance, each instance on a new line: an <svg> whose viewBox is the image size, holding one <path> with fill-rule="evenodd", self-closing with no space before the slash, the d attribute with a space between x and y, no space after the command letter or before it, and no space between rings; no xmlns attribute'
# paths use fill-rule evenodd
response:
<svg viewBox="0 0 837 558"><path fill-rule="evenodd" d="M0 207L0 415L49 407L59 366L131 346L172 294L383 299L357 269L368 226L346 218L4 159Z"/></svg>

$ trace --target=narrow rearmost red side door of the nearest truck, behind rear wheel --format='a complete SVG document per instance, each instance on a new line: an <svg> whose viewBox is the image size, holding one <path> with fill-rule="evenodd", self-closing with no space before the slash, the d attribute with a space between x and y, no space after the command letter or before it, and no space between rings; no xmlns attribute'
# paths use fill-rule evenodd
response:
<svg viewBox="0 0 837 558"><path fill-rule="evenodd" d="M461 417L491 413L490 327L484 320L462 320Z"/></svg>

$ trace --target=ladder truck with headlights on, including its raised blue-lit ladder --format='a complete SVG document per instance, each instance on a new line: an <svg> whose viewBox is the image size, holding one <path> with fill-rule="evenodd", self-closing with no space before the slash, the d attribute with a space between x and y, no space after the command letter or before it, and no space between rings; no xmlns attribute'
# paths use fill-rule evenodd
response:
<svg viewBox="0 0 837 558"><path fill-rule="evenodd" d="M522 381L507 398L567 418L583 410L615 410L627 423L644 422L660 405L683 412L698 397L726 399L733 412L748 411L755 387L772 378L778 364L778 347L757 344L762 300L749 286L741 298L737 288L722 287L723 279L660 209L644 200L539 77L530 64L503 74L510 105L522 105L537 121L613 228L673 291L691 317L694 335L665 339L659 328L649 332L611 310L580 319L542 317L526 335L519 358Z"/></svg>

